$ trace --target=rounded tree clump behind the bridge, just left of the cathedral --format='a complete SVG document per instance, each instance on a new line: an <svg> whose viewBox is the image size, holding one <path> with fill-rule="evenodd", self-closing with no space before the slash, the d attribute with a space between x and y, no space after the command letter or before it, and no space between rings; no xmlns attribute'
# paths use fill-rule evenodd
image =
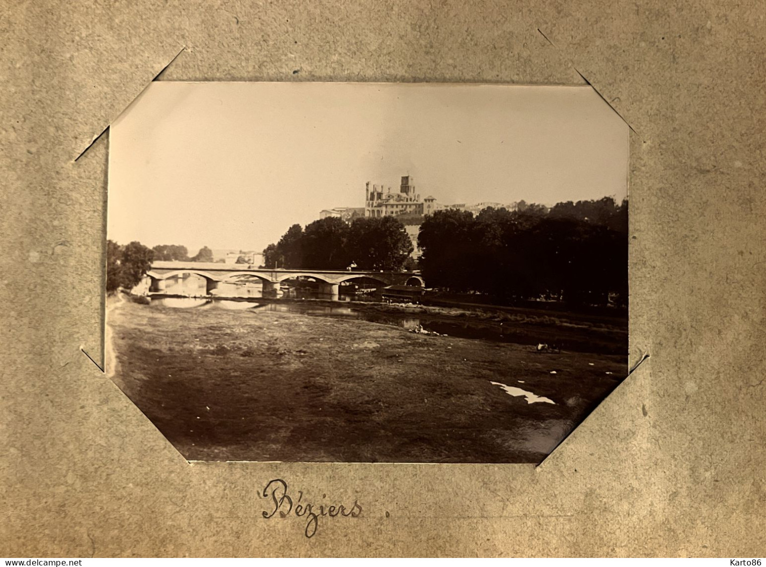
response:
<svg viewBox="0 0 766 567"><path fill-rule="evenodd" d="M395 217L362 217L345 223L338 217L293 224L276 244L264 249L267 268L400 270L411 268L413 246Z"/></svg>

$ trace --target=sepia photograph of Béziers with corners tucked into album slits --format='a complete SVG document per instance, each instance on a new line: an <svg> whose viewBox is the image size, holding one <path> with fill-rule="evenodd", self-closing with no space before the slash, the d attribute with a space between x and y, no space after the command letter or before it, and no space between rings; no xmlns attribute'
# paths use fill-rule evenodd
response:
<svg viewBox="0 0 766 567"><path fill-rule="evenodd" d="M106 374L189 461L539 463L627 376L591 86L161 81L109 143Z"/></svg>

